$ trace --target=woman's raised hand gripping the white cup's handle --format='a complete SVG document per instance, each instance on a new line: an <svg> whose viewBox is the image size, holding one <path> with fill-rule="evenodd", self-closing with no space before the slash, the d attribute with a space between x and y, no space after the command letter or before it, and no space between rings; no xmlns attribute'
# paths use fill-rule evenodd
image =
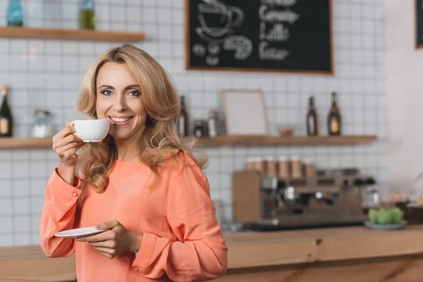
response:
<svg viewBox="0 0 423 282"><path fill-rule="evenodd" d="M59 166L75 168L78 162L76 151L85 145L80 137L74 135L75 127L70 122L53 137L53 149L59 157Z"/></svg>

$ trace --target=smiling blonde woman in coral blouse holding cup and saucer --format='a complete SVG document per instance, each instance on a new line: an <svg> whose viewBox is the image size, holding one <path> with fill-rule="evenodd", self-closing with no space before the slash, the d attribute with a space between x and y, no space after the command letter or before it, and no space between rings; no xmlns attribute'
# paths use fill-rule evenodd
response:
<svg viewBox="0 0 423 282"><path fill-rule="evenodd" d="M109 135L84 143L68 123L53 137L59 166L40 220L44 253L76 252L79 282L206 281L225 273L227 248L200 169L207 159L196 160L186 151L193 144L177 137L178 104L164 69L132 45L106 51L85 75L78 109L109 119ZM54 236L87 226L106 231Z"/></svg>

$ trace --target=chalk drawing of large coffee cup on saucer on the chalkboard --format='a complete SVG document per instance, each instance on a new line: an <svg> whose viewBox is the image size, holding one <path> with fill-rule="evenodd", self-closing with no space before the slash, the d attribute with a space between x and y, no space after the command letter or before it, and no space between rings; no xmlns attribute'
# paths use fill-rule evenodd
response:
<svg viewBox="0 0 423 282"><path fill-rule="evenodd" d="M244 12L235 6L226 6L218 0L203 0L198 5L198 19L201 27L197 35L207 42L221 43L233 34L234 28L244 22Z"/></svg>

